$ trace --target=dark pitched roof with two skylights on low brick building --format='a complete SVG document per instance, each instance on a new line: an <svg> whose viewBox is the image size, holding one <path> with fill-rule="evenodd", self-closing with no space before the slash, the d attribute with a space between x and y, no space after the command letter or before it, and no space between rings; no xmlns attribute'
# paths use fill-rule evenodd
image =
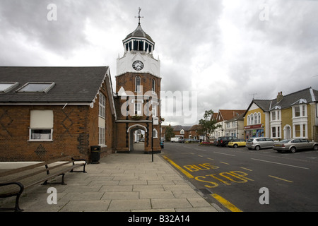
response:
<svg viewBox="0 0 318 226"><path fill-rule="evenodd" d="M0 82L14 82L18 86L0 94L2 103L20 102L86 102L95 99L100 85L109 76L108 66L90 67L28 67L0 66ZM111 87L110 79L107 84ZM28 82L53 82L54 87L48 93L17 93L16 90ZM112 89L112 88L110 88ZM112 93L112 90L107 90ZM112 98L111 98L112 99Z"/></svg>

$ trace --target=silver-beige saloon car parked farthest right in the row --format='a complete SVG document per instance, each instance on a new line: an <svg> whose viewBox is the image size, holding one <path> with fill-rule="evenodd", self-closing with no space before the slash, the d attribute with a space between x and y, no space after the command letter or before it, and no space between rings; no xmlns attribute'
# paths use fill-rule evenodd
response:
<svg viewBox="0 0 318 226"><path fill-rule="evenodd" d="M318 143L308 141L307 139L295 138L285 139L283 141L276 142L273 145L273 150L277 150L278 153L289 150L291 153L295 153L297 150L318 150Z"/></svg>

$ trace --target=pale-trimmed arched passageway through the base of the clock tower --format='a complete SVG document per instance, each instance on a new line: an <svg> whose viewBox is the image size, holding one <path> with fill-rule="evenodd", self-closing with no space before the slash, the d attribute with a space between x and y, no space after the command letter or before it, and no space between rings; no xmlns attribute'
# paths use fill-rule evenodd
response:
<svg viewBox="0 0 318 226"><path fill-rule="evenodd" d="M147 133L146 127L140 124L136 124L130 126L127 129L127 132L129 133L129 152L144 153ZM141 134L143 134L143 141L140 141Z"/></svg>

